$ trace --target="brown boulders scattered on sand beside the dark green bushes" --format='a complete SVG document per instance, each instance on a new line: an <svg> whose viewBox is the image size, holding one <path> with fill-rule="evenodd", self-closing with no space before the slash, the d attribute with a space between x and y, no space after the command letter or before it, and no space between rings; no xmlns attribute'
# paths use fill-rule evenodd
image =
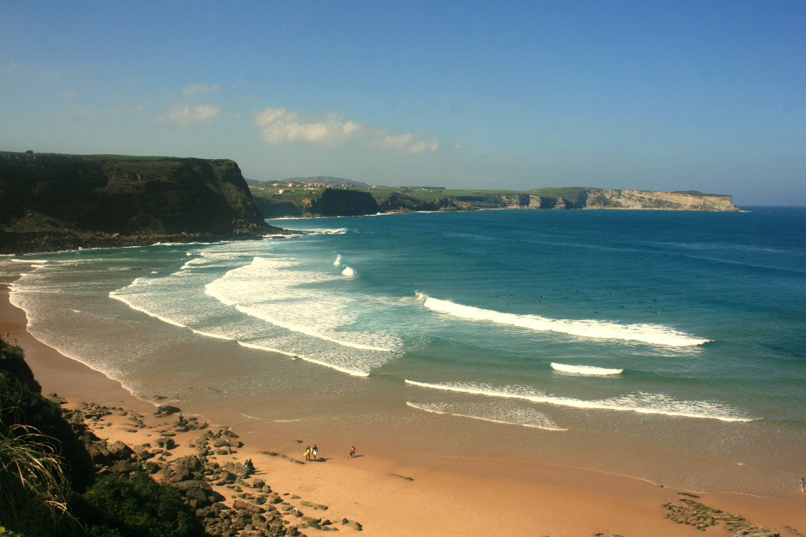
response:
<svg viewBox="0 0 806 537"><path fill-rule="evenodd" d="M176 407L160 406L156 414L165 417L179 411ZM339 527L349 527L355 531L362 529L359 522L347 518L337 523L328 518L306 515L288 501L301 500L299 496L275 492L263 479L250 477L249 470L243 465L229 461L219 464L214 460L215 454L229 455L236 448L243 447L238 435L226 427L213 431L197 418L185 419L179 414L172 423L173 431L160 433L160 438L155 441L156 448L150 443L130 447L120 441L110 445L90 431L85 420L101 424L103 418L113 413L127 416L131 420L131 427L147 427L142 414L127 412L119 407L82 403L78 410L63 410L64 417L85 444L93 462L100 467L99 473L151 474L156 481L170 485L181 493L185 502L196 510L207 535L296 537L304 535L301 531L305 528L320 531L338 531ZM164 455L176 447L171 435L194 429L204 431L188 444L196 453L165 460ZM230 489L229 500L214 487ZM226 502L230 500L231 505L227 505ZM328 509L328 506L305 500L299 504L310 507L312 512Z"/></svg>

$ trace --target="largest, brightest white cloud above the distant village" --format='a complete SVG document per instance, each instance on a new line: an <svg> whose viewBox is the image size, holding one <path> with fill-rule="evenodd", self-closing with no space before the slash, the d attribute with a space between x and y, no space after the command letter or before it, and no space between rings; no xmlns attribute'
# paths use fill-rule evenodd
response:
<svg viewBox="0 0 806 537"><path fill-rule="evenodd" d="M263 129L261 137L269 144L305 142L339 145L364 133L363 125L344 121L334 112L317 121L282 108L266 108L255 116L255 124Z"/></svg>

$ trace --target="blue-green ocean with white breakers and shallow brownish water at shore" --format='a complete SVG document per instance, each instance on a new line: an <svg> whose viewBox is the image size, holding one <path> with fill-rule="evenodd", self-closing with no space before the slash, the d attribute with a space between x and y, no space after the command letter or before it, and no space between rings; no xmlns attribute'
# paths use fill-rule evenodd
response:
<svg viewBox="0 0 806 537"><path fill-rule="evenodd" d="M238 427L776 496L806 467L806 209L272 220L0 258L37 339ZM356 440L358 439L358 440Z"/></svg>

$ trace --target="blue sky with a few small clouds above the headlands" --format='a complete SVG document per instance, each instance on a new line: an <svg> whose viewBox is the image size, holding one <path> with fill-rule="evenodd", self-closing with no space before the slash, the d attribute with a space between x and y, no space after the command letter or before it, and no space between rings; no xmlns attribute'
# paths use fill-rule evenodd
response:
<svg viewBox="0 0 806 537"><path fill-rule="evenodd" d="M0 0L0 151L806 206L806 2Z"/></svg>

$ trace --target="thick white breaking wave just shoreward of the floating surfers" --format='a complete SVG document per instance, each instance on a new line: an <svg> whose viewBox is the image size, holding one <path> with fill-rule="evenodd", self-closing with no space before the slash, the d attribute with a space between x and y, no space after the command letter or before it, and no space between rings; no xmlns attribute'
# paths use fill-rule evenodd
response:
<svg viewBox="0 0 806 537"><path fill-rule="evenodd" d="M475 321L490 321L534 331L555 331L596 339L641 341L670 347L688 347L710 341L710 339L698 339L692 335L657 324L625 325L596 321L594 319L571 320L547 318L539 315L508 314L496 310L484 310L475 306L463 306L455 302L431 298L422 293L418 293L418 297L425 299L423 306L431 311L438 311L453 317L468 318Z"/></svg>

